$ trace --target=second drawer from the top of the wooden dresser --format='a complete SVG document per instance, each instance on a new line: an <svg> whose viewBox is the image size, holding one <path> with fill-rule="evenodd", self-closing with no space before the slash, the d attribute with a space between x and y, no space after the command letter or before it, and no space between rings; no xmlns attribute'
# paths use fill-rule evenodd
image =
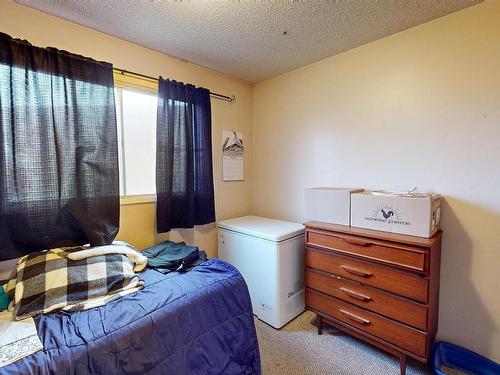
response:
<svg viewBox="0 0 500 375"><path fill-rule="evenodd" d="M429 281L417 275L309 247L306 248L305 264L309 268L427 303Z"/></svg>

